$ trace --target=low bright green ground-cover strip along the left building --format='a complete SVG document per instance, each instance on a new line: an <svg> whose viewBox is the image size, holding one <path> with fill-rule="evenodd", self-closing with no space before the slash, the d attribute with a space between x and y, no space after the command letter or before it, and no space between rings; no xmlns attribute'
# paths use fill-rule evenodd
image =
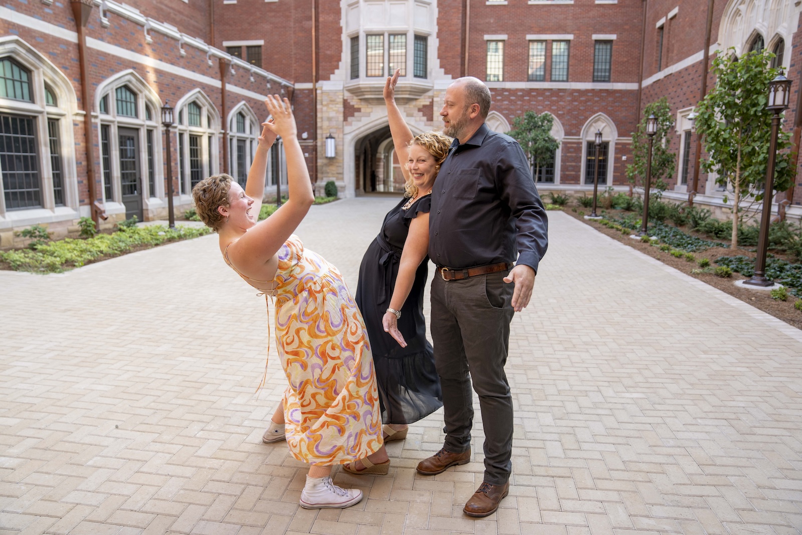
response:
<svg viewBox="0 0 802 535"><path fill-rule="evenodd" d="M91 221L91 220L90 220ZM124 227L111 234L99 234L86 240L66 238L39 246L35 251L26 249L0 253L0 260L11 265L12 270L34 273L60 273L79 267L98 257L115 257L131 249L148 245L160 245L167 241L183 240L210 233L206 227L178 226L168 229L164 225L147 227Z"/></svg>

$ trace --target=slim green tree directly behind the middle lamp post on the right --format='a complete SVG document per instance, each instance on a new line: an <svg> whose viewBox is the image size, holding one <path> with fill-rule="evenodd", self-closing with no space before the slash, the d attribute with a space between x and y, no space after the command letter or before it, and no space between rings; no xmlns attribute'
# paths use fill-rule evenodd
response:
<svg viewBox="0 0 802 535"><path fill-rule="evenodd" d="M626 166L626 178L633 186L646 186L646 157L649 156L649 136L646 136L646 119L654 114L657 117L657 133L652 141L651 187L662 193L668 187L666 179L674 174L676 154L668 150L668 135L674 128L674 118L666 97L650 103L643 110L638 130L632 134L632 163ZM658 193L658 197L660 195Z"/></svg>

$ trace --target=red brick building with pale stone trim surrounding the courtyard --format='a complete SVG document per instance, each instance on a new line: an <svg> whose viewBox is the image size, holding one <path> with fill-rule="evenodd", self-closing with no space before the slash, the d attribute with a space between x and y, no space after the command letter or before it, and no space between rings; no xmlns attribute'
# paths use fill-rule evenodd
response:
<svg viewBox="0 0 802 535"><path fill-rule="evenodd" d="M687 116L700 96L707 17L699 2L78 1L91 6L83 77L74 2L0 6L0 246L12 245L14 231L28 225L65 233L91 215L88 157L97 205L109 221L164 218L168 155L160 107L168 101L178 123L170 132L176 213L191 205L190 188L202 176L228 171L244 179L267 93L292 99L318 184L334 180L344 197L399 191L382 99L395 67L403 68L397 100L413 132L439 128L445 88L461 75L487 80L488 124L497 131L526 110L549 112L560 148L536 177L541 191L592 188L597 131L604 141L600 182L628 190L631 132L642 108L666 95L678 159L666 196L684 201L693 183L697 140ZM711 59L727 47L738 54L759 43L783 50L780 63L795 80L784 128L796 128L798 140L800 6L711 4ZM328 156L326 138L335 146ZM724 193L714 179L699 173L695 201L720 213ZM266 180L282 180L279 149ZM802 188L791 195L788 215L800 217Z"/></svg>

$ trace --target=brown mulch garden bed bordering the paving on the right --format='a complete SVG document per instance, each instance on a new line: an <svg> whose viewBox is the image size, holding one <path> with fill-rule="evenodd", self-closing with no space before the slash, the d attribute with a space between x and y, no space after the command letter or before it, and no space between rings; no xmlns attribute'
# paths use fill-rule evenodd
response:
<svg viewBox="0 0 802 535"><path fill-rule="evenodd" d="M706 258L707 261L710 262L711 268L715 268L715 260L719 257L735 257L743 255L744 257L754 259L755 249L730 249L727 246L727 243L721 241L719 242L719 246L711 246L708 249L694 251L691 253L693 255L692 260L691 257L686 258L684 254L682 257L674 257L670 252L661 250L658 245L652 245L643 241L634 240L630 237L630 234L637 232L626 232L625 234L622 232L622 230L602 225L602 223L599 222L602 220L585 219L584 216L590 212L588 209L563 207L563 211L569 216L575 217L577 220L582 221L586 225L592 226L598 232L612 237L614 240L620 241L625 245L629 245L633 249L637 249L638 251L649 255L650 257L656 258L657 260L662 261L666 265L670 265L684 274L690 275L693 278L697 278L702 282L706 282L710 286L714 286L715 288L718 288L719 290L722 290L723 292L730 294L735 298L739 298L741 301L747 302L751 306L755 306L755 308L763 310L775 318L781 319L789 325L795 326L797 329L802 330L802 310L797 310L795 308L795 303L799 298L792 295L790 291L788 293L788 300L780 301L772 298L771 292L768 290L747 290L745 288L739 288L738 286L735 286L735 281L747 278L742 274L733 273L728 278L721 278L716 276L714 273L706 272L705 270L701 269L699 265L699 261L702 261L703 258ZM600 215L602 214L602 212L597 213L600 213ZM609 221L619 220L620 218L625 217L626 214L631 213L632 212L616 209L607 209L603 211L603 215L608 218ZM688 229L681 230L690 236L711 241L709 237L699 235L699 233L694 233ZM684 252L685 251L683 251L683 253ZM794 258L776 251L770 251L770 255L786 261L795 261Z"/></svg>

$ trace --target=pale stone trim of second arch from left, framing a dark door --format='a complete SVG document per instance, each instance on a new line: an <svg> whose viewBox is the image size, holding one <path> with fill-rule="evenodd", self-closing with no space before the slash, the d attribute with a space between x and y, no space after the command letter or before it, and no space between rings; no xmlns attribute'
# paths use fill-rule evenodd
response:
<svg viewBox="0 0 802 535"><path fill-rule="evenodd" d="M136 108L138 116L123 116L117 113L118 106L115 101L117 90L120 87L128 87L136 98ZM101 111L100 102L106 99L106 112ZM139 135L139 164L140 173L142 176L142 201L143 206L148 206L151 202L161 203L165 199L164 187L164 149L162 145L162 136L160 135L163 128L160 124L161 119L161 106L162 102L156 91L142 79L142 77L128 69L120 71L115 75L103 80L102 83L95 89L95 103L94 111L92 113L95 119L95 136L98 142L98 153L95 158L99 160L99 176L109 176L111 185L111 197L107 193L107 187L99 188L102 193L102 201L106 208L107 213L118 213L124 211L122 186L121 186L121 170L119 168L119 128L132 128L138 132ZM148 119L145 110L150 107L152 113ZM158 111L158 113L156 113ZM101 127L108 128L108 157L103 158L103 153L100 147L100 130ZM151 191L150 180L148 180L148 168L150 161L148 161L148 130L155 131L152 135L152 164L154 168L154 184L156 191ZM108 165L109 168L106 168Z"/></svg>

